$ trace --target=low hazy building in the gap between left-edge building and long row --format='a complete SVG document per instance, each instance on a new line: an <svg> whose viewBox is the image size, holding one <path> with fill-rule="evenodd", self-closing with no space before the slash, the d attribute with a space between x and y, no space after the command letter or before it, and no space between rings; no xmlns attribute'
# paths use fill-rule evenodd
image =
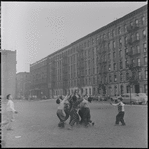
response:
<svg viewBox="0 0 149 149"><path fill-rule="evenodd" d="M30 73L19 72L16 74L16 97L28 98L30 94Z"/></svg>

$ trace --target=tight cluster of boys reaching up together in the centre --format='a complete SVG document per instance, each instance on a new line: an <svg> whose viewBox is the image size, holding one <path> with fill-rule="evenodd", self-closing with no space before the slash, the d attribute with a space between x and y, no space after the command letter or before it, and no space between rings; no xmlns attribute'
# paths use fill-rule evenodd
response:
<svg viewBox="0 0 149 149"><path fill-rule="evenodd" d="M71 95L66 95L64 98L60 96L56 103L59 104L57 109L57 116L60 120L58 127L63 128L65 121L70 117L68 129L72 129L76 124L88 127L90 124L94 125L91 121L89 102L87 95L81 96L75 91ZM81 120L80 120L81 119Z"/></svg>

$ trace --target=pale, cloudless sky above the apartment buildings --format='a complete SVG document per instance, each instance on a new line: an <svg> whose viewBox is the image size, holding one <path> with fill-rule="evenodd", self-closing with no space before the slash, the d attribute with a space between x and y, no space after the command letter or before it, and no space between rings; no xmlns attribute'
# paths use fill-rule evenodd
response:
<svg viewBox="0 0 149 149"><path fill-rule="evenodd" d="M147 2L1 2L1 47L17 51L17 73Z"/></svg>

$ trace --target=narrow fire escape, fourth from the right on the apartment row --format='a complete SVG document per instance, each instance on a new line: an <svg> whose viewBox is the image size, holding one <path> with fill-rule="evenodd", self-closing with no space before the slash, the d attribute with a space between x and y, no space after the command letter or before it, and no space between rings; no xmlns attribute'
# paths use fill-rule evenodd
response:
<svg viewBox="0 0 149 149"><path fill-rule="evenodd" d="M68 56L67 55L63 55L62 58L62 79L63 79L63 93L66 94L67 93L67 83L68 83Z"/></svg>

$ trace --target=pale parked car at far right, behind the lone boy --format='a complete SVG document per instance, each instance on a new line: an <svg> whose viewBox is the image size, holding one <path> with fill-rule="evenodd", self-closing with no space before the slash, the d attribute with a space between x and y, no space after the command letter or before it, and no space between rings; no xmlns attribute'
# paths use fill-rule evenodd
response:
<svg viewBox="0 0 149 149"><path fill-rule="evenodd" d="M130 99L130 93L125 93L118 98L121 97L123 99L123 103L130 103L130 104L142 104L144 99L143 97L140 97L137 93L131 93L131 99Z"/></svg>

